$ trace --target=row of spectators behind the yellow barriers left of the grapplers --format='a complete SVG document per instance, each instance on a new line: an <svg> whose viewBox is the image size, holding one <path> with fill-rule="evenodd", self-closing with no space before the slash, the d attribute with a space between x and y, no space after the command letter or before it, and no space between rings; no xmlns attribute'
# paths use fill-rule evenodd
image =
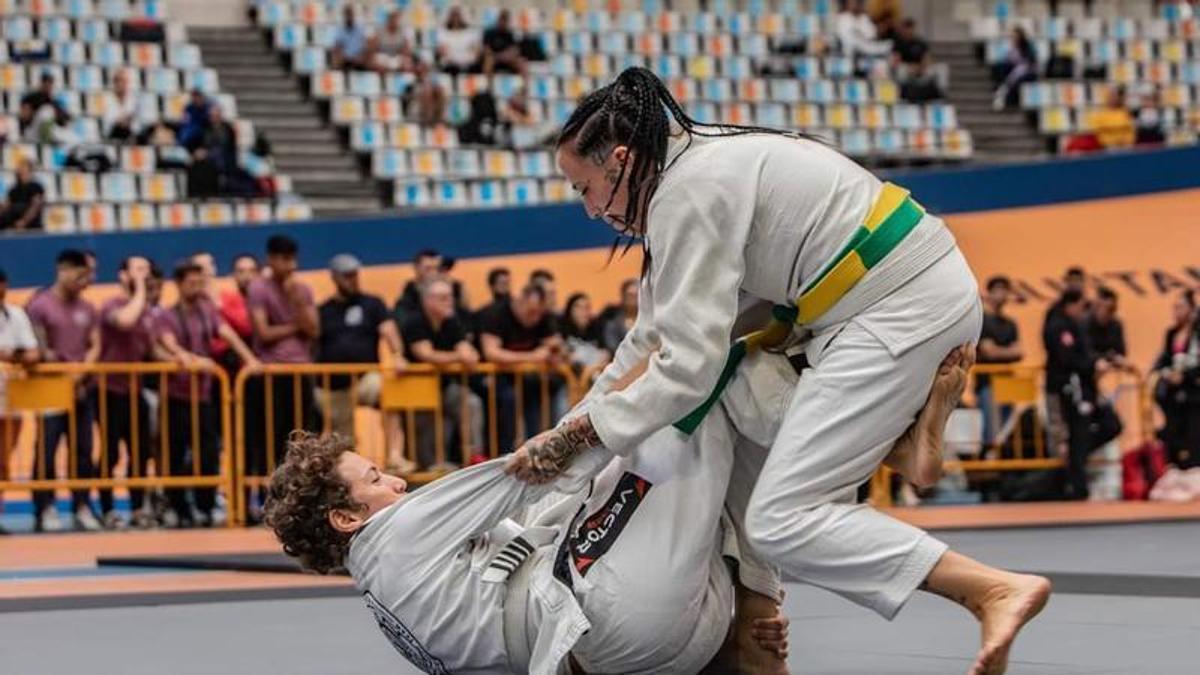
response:
<svg viewBox="0 0 1200 675"><path fill-rule="evenodd" d="M74 414L44 416L34 474L56 477L55 449L64 437L71 437L74 477L116 476L122 448L125 474L145 477L157 456L151 449L162 446L161 435L166 434L170 466L155 472L169 468L172 476L190 476L198 467L200 474L216 476L221 406L228 401L222 400L211 375L215 368L234 375L244 366L262 364L379 365L354 377L334 375L328 383L307 376L299 386L293 386L292 376L251 377L246 410L275 411L270 422L263 414L246 418L246 472L259 476L269 468L268 456L286 453L284 430L319 431L328 425L353 435L355 408L380 406L384 369L403 372L410 364L469 369L482 362L546 366L536 369L551 372L545 387L538 372L496 377L494 419L484 405L490 395L486 377L443 375L440 455L432 413L418 413L416 437L406 438L400 414L383 411L390 470L450 471L482 461L488 453L485 438L490 428L494 428L500 452L508 452L520 435L530 436L557 422L568 399L565 381L554 372L566 366L582 374L605 363L637 315L635 280L623 283L620 303L595 313L582 293L559 305L554 274L546 269L534 270L520 288L514 287L510 270L493 269L488 274L490 297L472 309L463 285L451 274L454 261L433 250L416 255L415 276L390 309L382 298L361 289L361 263L354 256L335 256L329 264L335 292L318 305L311 287L295 274L296 255L294 240L272 237L262 262L250 253L232 261L234 287L223 291L214 283L216 262L206 252L178 262L169 274L145 257L132 256L120 264L120 292L96 306L83 297L95 281L95 256L62 251L53 283L36 291L25 307L2 305L0 360L26 365L167 362L193 368L197 375L194 380L190 372L173 375L166 392L160 390L156 378L80 377ZM161 303L168 277L178 298L172 306ZM0 303L5 291L0 273ZM0 377L0 411L5 410L2 386ZM167 420L166 430L157 429L160 417ZM94 437L97 423L103 438ZM19 416L0 419L5 437L0 467L7 466L19 426ZM103 443L104 456L94 452L97 441ZM145 490L131 489L130 518L115 508L110 489L100 490L98 496L96 509L88 490L73 492L76 528L190 527L211 525L218 518L215 488L169 488L157 502ZM64 527L50 491L35 490L34 506L36 531ZM251 518L256 516L252 509Z"/></svg>

